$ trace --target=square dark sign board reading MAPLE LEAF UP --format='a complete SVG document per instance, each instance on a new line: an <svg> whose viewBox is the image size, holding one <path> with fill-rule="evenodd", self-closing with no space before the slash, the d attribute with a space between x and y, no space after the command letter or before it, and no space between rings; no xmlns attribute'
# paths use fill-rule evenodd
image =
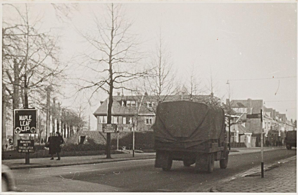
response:
<svg viewBox="0 0 298 195"><path fill-rule="evenodd" d="M15 109L13 130L15 134L37 134L37 110Z"/></svg>

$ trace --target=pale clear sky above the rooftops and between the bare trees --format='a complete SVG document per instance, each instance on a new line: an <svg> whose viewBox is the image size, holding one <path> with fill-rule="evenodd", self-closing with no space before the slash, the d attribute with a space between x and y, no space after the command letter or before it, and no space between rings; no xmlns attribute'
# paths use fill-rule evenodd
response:
<svg viewBox="0 0 298 195"><path fill-rule="evenodd" d="M60 33L60 57L67 60L75 56L76 63L70 65L73 68L68 74L88 74L77 66L80 54L88 50L77 29L94 28L91 13L103 15L105 4L79 3L71 20L64 22L55 18L50 4L30 6L32 18L43 15L41 29L55 27ZM263 99L266 107L285 113L288 120L297 118L296 3L123 3L122 9L133 21L131 32L142 40L144 51L154 48L161 32L181 84L194 65L201 88L210 88L212 75L213 93L224 101L230 87L231 99ZM14 16L3 7L6 17ZM66 85L64 91L72 94L74 89ZM83 101L90 94L84 96ZM92 106L86 104L86 115L91 115L95 129L92 113L106 97L104 92L97 93ZM61 101L73 107L77 100Z"/></svg>

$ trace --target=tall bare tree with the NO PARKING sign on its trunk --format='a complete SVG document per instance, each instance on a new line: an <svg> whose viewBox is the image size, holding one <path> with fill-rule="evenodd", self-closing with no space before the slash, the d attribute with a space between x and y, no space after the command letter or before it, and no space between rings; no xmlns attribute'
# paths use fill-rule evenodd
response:
<svg viewBox="0 0 298 195"><path fill-rule="evenodd" d="M80 35L89 45L89 53L85 53L86 69L96 72L94 78L79 78L78 91L91 89L92 95L103 90L109 95L107 123L111 124L111 108L113 104L113 90L132 90L125 83L147 74L134 66L141 59L138 51L138 40L130 32L132 23L121 13L121 4L108 4L107 15L99 17L94 14L94 27ZM94 31L95 29L95 31ZM89 101L90 101L89 99ZM107 158L111 158L110 133L107 134Z"/></svg>

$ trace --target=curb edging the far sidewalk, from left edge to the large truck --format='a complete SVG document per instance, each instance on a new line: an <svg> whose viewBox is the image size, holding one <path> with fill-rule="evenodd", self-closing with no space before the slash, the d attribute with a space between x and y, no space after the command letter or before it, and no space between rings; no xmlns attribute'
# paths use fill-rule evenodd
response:
<svg viewBox="0 0 298 195"><path fill-rule="evenodd" d="M35 168L48 168L48 167L60 167L60 166L75 166L75 165L91 165L91 164L101 164L101 163L111 163L111 162L119 162L119 161L128 161L128 160L143 160L143 159L154 159L154 157L143 157L143 158L115 158L105 161L97 161L97 162L85 162L85 163L68 163L68 164L53 164L53 165L32 165L32 166L16 166L10 167L11 170L16 169L35 169ZM9 167L9 166L8 166Z"/></svg>

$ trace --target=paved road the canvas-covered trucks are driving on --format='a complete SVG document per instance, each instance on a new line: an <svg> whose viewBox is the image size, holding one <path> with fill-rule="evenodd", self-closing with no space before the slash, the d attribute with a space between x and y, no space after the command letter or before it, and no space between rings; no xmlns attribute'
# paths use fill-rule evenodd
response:
<svg viewBox="0 0 298 195"><path fill-rule="evenodd" d="M264 164L292 157L296 149L264 152ZM232 154L232 153L231 153ZM154 159L94 165L13 170L23 192L207 192L221 180L260 166L260 153L230 155L227 169L215 162L212 174L194 172L173 161L171 171L154 168ZM266 172L265 172L266 177Z"/></svg>

